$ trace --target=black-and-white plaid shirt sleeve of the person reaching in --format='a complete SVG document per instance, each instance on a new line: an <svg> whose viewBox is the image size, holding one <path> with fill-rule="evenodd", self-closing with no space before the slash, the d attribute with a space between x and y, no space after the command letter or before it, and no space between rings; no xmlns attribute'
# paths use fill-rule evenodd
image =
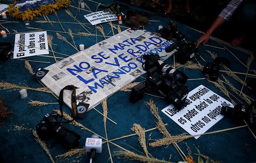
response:
<svg viewBox="0 0 256 163"><path fill-rule="evenodd" d="M243 0L231 0L218 16L228 20L242 2Z"/></svg>

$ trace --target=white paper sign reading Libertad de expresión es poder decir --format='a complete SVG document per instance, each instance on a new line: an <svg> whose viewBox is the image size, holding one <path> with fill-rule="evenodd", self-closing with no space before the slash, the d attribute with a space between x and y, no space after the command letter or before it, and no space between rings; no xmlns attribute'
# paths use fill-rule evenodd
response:
<svg viewBox="0 0 256 163"><path fill-rule="evenodd" d="M169 105L162 112L191 135L202 134L221 120L224 117L220 113L222 106L233 107L226 99L203 85L188 93L186 103L188 105L181 111Z"/></svg>

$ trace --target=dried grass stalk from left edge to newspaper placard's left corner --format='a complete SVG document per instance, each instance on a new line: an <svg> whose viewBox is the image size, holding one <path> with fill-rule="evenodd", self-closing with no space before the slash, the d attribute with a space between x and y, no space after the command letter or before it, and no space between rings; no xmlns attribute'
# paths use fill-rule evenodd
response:
<svg viewBox="0 0 256 163"><path fill-rule="evenodd" d="M30 87L19 86L19 85L7 83L7 82L0 82L0 88L10 89L10 91L16 91L19 89L27 89L27 90L32 90L32 91L52 93L51 91L49 91L48 88L30 88Z"/></svg>

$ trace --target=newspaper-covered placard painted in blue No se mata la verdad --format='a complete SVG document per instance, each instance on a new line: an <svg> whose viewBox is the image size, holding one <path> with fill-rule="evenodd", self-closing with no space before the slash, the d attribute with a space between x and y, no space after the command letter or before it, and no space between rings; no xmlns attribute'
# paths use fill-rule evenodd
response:
<svg viewBox="0 0 256 163"><path fill-rule="evenodd" d="M170 44L146 30L128 29L46 67L49 72L41 81L57 96L67 85L78 87L77 101L91 109L145 73L143 54L158 53L162 60L170 57L174 51L165 52ZM63 96L70 108L71 93L65 90Z"/></svg>

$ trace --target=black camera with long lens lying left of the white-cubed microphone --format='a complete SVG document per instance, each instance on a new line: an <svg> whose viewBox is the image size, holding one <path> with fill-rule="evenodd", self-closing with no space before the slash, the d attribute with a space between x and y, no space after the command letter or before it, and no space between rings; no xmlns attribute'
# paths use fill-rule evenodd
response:
<svg viewBox="0 0 256 163"><path fill-rule="evenodd" d="M68 149L76 148L79 145L80 135L68 130L58 122L56 112L46 114L43 120L35 127L40 139L48 140L55 136L56 140Z"/></svg>

